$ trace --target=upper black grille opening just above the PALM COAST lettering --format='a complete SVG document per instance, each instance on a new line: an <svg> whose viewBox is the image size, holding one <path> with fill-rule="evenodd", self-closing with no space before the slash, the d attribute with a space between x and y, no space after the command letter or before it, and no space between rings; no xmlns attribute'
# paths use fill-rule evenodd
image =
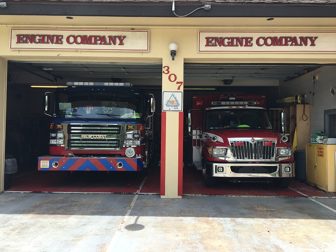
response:
<svg viewBox="0 0 336 252"><path fill-rule="evenodd" d="M69 135L120 135L121 125L69 124Z"/></svg>

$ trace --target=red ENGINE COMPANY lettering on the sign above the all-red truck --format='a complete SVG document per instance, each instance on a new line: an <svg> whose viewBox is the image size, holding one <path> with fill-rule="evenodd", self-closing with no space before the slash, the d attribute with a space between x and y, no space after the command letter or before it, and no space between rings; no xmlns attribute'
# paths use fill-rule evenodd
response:
<svg viewBox="0 0 336 252"><path fill-rule="evenodd" d="M315 46L318 37L258 37L257 46ZM205 46L253 46L253 37L206 37Z"/></svg>

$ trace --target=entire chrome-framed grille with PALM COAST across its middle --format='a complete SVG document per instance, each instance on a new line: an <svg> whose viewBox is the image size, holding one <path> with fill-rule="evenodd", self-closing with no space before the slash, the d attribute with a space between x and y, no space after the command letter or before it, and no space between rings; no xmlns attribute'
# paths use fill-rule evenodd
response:
<svg viewBox="0 0 336 252"><path fill-rule="evenodd" d="M68 124L68 149L120 149L121 125Z"/></svg>

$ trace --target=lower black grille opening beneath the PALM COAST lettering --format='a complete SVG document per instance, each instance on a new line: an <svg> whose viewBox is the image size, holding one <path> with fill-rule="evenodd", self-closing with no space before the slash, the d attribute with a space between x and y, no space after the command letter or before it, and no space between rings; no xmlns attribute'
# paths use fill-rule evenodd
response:
<svg viewBox="0 0 336 252"><path fill-rule="evenodd" d="M120 139L79 139L68 140L69 149L118 149Z"/></svg>

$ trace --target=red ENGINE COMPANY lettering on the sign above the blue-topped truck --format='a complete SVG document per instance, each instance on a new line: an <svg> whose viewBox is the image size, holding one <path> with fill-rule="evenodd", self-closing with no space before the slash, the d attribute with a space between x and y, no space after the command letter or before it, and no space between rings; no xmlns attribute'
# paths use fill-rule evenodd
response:
<svg viewBox="0 0 336 252"><path fill-rule="evenodd" d="M125 38L121 35L69 35L65 41L69 45L124 45ZM18 34L16 44L63 44L63 35Z"/></svg>

